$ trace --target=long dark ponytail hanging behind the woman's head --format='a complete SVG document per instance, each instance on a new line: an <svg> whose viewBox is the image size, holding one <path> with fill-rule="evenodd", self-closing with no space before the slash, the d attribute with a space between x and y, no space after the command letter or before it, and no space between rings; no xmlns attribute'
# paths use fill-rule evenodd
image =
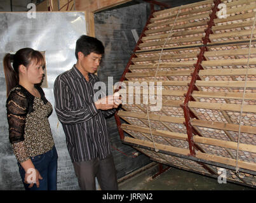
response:
<svg viewBox="0 0 256 203"><path fill-rule="evenodd" d="M18 71L16 72L13 67L11 67L11 62L13 62L13 55L10 53L4 56L4 75L6 81L6 96L9 95L11 89L13 89L18 84Z"/></svg>

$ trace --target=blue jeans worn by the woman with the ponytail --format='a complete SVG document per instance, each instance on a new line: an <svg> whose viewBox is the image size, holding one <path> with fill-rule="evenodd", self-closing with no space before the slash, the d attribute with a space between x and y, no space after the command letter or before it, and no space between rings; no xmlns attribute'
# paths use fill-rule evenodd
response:
<svg viewBox="0 0 256 203"><path fill-rule="evenodd" d="M24 183L25 190L57 190L57 159L58 154L55 146L44 154L38 155L36 157L30 157L32 163L39 171L43 180L39 179L39 188L36 187L36 183L34 183L32 188L29 188L30 184L24 183L25 178L25 170L18 163L20 176L22 178L22 182Z"/></svg>

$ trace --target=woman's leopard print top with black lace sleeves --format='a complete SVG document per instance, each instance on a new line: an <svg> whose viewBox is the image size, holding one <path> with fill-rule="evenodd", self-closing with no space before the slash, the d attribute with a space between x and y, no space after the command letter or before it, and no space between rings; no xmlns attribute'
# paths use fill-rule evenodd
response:
<svg viewBox="0 0 256 203"><path fill-rule="evenodd" d="M41 98L18 85L11 89L6 100L9 140L18 162L44 154L54 145L48 121L53 109L43 89L39 86L36 88Z"/></svg>

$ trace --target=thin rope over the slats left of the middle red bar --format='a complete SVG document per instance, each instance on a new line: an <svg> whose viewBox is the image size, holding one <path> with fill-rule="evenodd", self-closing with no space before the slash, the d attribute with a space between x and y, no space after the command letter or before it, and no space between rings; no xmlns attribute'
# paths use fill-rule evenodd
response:
<svg viewBox="0 0 256 203"><path fill-rule="evenodd" d="M181 5L181 6L182 6L182 5ZM180 8L181 8L181 6L180 6ZM163 47L162 47L162 49L161 49L161 53L160 53L159 60L158 60L158 67L156 68L156 74L154 75L154 82L156 81L156 75L158 74L158 69L159 69L159 65L160 65L160 61L161 61L161 56L162 56L162 54L163 54L163 49L165 48L165 45L166 45L167 41L170 39L170 36L172 36L172 30L173 30L173 27L174 27L174 25L175 25L175 23L176 23L176 21L177 21L178 16L179 16L180 8L179 8L179 11L178 11L178 13L177 13L177 15L176 15L175 21L174 21L174 23L173 23L173 25L172 25L172 29L170 30L170 33L168 34L168 36L167 36L167 38L166 38L166 40L165 40L165 43L163 44ZM154 64L154 65L156 65L156 64ZM154 65L153 65L153 67L154 67ZM151 139L152 139L152 142L153 142L153 145L154 145L154 150L155 150L156 152L158 152L159 150L158 150L158 148L156 148L156 145L155 145L155 143L154 143L154 138L153 138L153 135L152 135L152 129L151 129L151 124L150 124L150 119L149 119L149 110L148 110L148 106L149 106L149 103L147 103L147 106L146 106L146 107L147 107L147 121L149 122L149 130L150 130L150 133L151 133Z"/></svg>

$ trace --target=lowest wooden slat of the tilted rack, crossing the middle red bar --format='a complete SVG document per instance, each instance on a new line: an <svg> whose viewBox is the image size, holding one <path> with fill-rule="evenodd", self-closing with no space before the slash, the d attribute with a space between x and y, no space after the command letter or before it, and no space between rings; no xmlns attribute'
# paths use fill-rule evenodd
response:
<svg viewBox="0 0 256 203"><path fill-rule="evenodd" d="M135 138L129 138L128 136L125 136L124 141L126 141L127 143L133 143L133 144L142 145L142 146L145 146L145 147L154 148L153 143L150 142L150 141L139 140L139 139L135 139ZM175 153L175 154L182 154L182 155L188 155L189 154L189 150L185 149L185 148L172 147L170 145L162 145L162 144L159 144L159 143L155 143L155 146L158 150L163 150L165 152L172 152L172 153ZM221 163L221 164L226 164L226 165L229 165L229 166L234 166L234 167L236 166L236 160L235 159L229 159L229 158L220 157L220 156L217 156L217 155L206 154L206 153L202 153L202 152L196 152L195 157L197 157L199 159L209 160L209 161L212 161L212 162L218 162L218 163ZM245 162L245 161L238 160L238 167L255 171L256 164L252 163L252 162Z"/></svg>

